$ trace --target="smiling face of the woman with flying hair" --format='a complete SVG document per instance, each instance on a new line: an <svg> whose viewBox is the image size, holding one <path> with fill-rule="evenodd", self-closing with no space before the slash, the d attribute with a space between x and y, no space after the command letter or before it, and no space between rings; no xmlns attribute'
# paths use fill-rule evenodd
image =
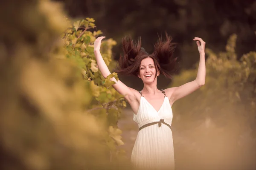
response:
<svg viewBox="0 0 256 170"><path fill-rule="evenodd" d="M159 76L159 71L157 76ZM154 66L154 60L151 57L147 57L141 61L140 74L138 77L140 77L142 81L146 83L154 82L156 77L156 68Z"/></svg>

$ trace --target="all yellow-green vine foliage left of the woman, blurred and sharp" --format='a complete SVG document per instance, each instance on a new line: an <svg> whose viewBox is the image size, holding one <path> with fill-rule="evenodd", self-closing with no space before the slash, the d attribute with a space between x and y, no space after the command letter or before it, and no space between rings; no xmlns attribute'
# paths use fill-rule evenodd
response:
<svg viewBox="0 0 256 170"><path fill-rule="evenodd" d="M0 3L0 169L131 169L116 149L126 105L110 87L117 75L103 79L93 55L101 32L64 16L49 0ZM102 44L108 65L113 45Z"/></svg>

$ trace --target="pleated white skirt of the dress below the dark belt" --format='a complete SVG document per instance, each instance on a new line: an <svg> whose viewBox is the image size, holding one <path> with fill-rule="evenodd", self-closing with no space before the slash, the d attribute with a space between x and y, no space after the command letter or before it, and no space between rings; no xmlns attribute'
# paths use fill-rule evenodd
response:
<svg viewBox="0 0 256 170"><path fill-rule="evenodd" d="M172 130L163 125L151 125L139 131L131 162L138 170L174 170Z"/></svg>

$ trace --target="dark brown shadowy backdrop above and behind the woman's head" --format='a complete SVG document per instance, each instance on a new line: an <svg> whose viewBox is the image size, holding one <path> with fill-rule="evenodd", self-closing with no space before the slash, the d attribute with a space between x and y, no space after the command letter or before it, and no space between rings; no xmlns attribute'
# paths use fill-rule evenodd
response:
<svg viewBox="0 0 256 170"><path fill-rule="evenodd" d="M165 31L177 42L179 68L195 68L199 60L194 37L207 42L213 51L225 50L228 37L236 33L237 54L256 50L256 3L254 0L61 0L71 17L92 17L106 38L113 38L114 58L121 51L121 39L142 37L143 47L153 52L158 35ZM253 3L254 2L254 3ZM177 72L178 73L178 72ZM128 86L141 89L139 79L123 78ZM134 78L134 77L132 77ZM162 81L161 81L162 80ZM164 81L163 81L164 80ZM171 80L160 77L158 88Z"/></svg>

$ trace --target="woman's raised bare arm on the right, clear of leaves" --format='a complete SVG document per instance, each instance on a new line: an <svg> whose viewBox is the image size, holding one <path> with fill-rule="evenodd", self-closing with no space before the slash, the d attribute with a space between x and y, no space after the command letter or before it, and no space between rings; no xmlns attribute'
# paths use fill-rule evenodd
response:
<svg viewBox="0 0 256 170"><path fill-rule="evenodd" d="M206 74L205 73L206 72L205 52L204 52L205 42L201 38L198 38L198 37L195 37L193 40L196 41L196 44L198 45L198 51L200 54L197 77L192 82L188 82L179 87L166 89L166 92L171 95L170 101L172 103L175 102L176 100L196 91L198 88L203 86L205 83L205 74Z"/></svg>

